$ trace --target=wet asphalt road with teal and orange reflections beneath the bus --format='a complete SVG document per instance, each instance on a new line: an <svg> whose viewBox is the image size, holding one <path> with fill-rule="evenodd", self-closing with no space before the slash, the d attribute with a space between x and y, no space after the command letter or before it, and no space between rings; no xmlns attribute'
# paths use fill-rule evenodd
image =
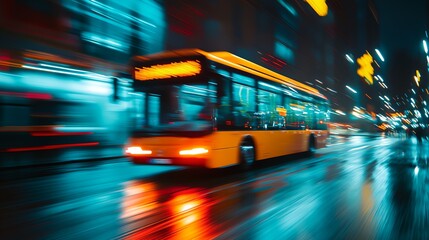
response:
<svg viewBox="0 0 429 240"><path fill-rule="evenodd" d="M335 138L248 172L126 159L0 170L1 239L429 239L429 142Z"/></svg>

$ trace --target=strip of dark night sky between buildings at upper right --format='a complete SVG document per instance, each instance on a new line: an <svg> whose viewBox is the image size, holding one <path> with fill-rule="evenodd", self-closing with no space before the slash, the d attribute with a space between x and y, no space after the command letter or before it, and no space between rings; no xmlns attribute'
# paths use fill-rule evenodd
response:
<svg viewBox="0 0 429 240"><path fill-rule="evenodd" d="M427 5L427 0L377 0L380 50L386 59L382 71L394 94L409 89L418 65L424 66L422 40L428 17Z"/></svg>

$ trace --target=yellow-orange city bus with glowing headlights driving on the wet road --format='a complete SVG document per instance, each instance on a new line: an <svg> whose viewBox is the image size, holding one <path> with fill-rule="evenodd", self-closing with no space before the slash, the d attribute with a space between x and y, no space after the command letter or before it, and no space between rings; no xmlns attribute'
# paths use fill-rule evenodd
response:
<svg viewBox="0 0 429 240"><path fill-rule="evenodd" d="M136 164L247 169L326 145L325 96L229 52L135 57L133 79L125 153Z"/></svg>

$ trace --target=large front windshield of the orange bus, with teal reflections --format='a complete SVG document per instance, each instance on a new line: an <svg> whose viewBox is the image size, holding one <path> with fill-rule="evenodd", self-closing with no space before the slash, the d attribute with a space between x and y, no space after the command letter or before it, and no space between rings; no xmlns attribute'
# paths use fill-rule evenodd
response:
<svg viewBox="0 0 429 240"><path fill-rule="evenodd" d="M190 135L213 129L216 84L152 84L143 88L134 133L145 136Z"/></svg>

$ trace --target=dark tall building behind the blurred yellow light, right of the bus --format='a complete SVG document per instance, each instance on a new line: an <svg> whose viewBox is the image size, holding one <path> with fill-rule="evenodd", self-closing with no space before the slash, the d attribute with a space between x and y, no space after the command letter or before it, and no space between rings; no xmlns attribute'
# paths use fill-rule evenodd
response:
<svg viewBox="0 0 429 240"><path fill-rule="evenodd" d="M372 129L370 119L362 120L356 117L353 109L360 108L366 115L375 118L380 112L379 95L385 89L381 88L376 79L369 84L357 74L361 67L358 58L368 53L377 62L372 63L374 75L383 71L383 62L378 59L375 49L380 48L380 25L378 10L373 0L367 1L327 1L332 11L333 41L335 42L334 61L335 71L329 88L336 92L329 92L333 108L338 108L346 115L334 115L333 120L353 123L360 128ZM356 93L347 89L353 88ZM384 95L384 94L383 94Z"/></svg>

